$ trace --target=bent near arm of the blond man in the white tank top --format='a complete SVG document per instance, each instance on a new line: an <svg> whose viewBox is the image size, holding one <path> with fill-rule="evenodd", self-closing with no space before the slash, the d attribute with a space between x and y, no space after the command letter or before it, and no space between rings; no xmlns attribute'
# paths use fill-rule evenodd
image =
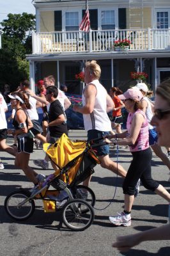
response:
<svg viewBox="0 0 170 256"><path fill-rule="evenodd" d="M95 86L93 84L88 84L84 92L84 97L86 99L85 105L83 107L74 105L73 111L76 111L85 115L92 113L95 106L96 95L97 95L97 89L95 88Z"/></svg>

